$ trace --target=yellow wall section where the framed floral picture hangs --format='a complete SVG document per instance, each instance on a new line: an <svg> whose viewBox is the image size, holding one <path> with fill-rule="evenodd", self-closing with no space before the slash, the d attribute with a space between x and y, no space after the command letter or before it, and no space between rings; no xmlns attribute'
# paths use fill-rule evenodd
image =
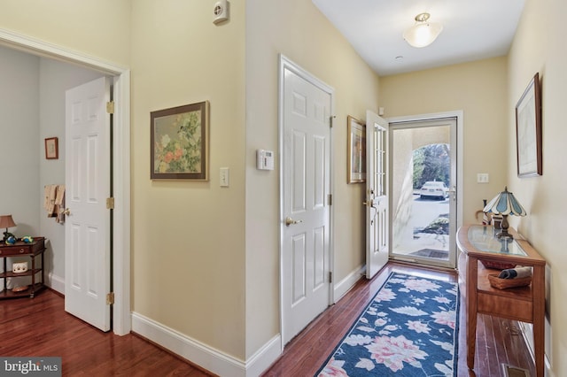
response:
<svg viewBox="0 0 567 377"><path fill-rule="evenodd" d="M244 359L245 4L212 6L133 2L132 309ZM150 112L205 100L209 181L151 181Z"/></svg>

